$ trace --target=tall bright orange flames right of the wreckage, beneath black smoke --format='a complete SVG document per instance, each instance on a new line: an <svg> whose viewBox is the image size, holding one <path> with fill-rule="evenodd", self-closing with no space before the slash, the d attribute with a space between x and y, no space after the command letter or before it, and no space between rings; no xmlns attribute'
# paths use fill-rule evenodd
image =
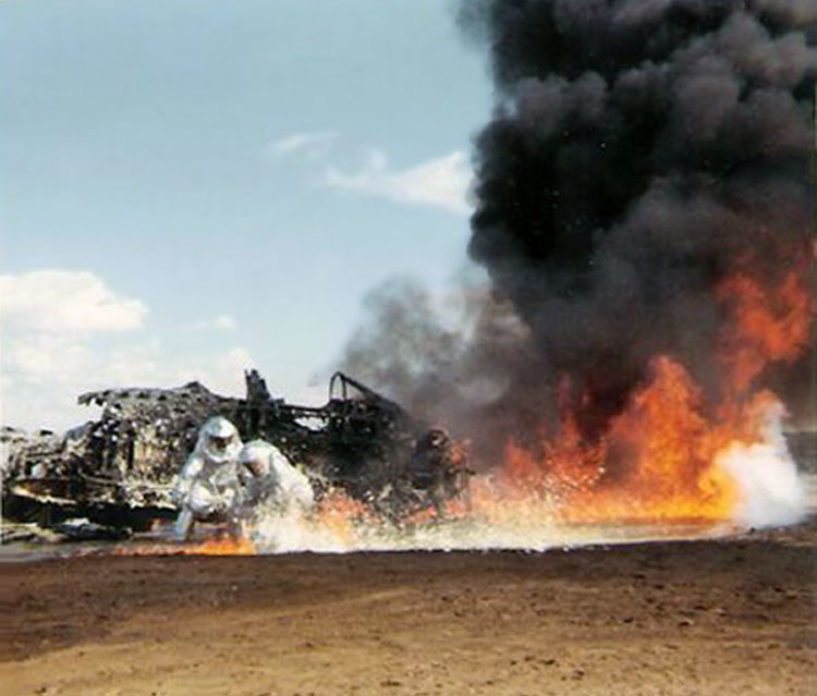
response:
<svg viewBox="0 0 817 696"><path fill-rule="evenodd" d="M730 520L742 493L721 462L737 445L761 442L768 415L782 408L754 384L769 364L795 361L808 343L804 276L792 270L764 286L741 271L718 288L729 317L718 356L720 403L707 403L688 370L667 355L653 358L646 384L596 442L583 441L560 398L556 434L542 430L535 452L509 442L490 485L475 484L477 512L495 521L507 508L529 516L537 506L570 523Z"/></svg>

